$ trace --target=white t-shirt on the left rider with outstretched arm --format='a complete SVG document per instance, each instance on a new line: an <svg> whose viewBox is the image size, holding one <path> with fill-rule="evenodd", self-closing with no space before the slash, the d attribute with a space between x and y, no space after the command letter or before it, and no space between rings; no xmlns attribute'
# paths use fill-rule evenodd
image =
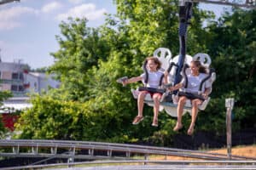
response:
<svg viewBox="0 0 256 170"><path fill-rule="evenodd" d="M163 73L161 71L148 71L148 88L159 88L160 78ZM146 79L146 73L143 73L140 77L143 77L143 82Z"/></svg>

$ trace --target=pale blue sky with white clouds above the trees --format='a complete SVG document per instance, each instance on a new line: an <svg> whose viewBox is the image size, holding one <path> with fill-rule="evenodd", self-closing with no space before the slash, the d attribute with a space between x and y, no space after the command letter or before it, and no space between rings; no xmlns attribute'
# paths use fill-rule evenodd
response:
<svg viewBox="0 0 256 170"><path fill-rule="evenodd" d="M223 6L201 4L218 16ZM54 59L49 53L58 50L55 35L67 16L86 17L88 26L101 26L105 13L115 14L113 0L20 0L0 5L0 48L3 62L21 59L32 68L49 66Z"/></svg>

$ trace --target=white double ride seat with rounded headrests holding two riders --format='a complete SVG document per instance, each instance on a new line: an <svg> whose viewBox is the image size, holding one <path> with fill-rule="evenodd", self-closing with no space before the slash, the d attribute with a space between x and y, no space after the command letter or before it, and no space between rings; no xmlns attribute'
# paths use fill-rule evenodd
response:
<svg viewBox="0 0 256 170"><path fill-rule="evenodd" d="M162 63L160 71L163 71L163 72L169 71L168 82L173 85L174 77L177 74L177 62L178 62L179 56L177 55L172 59L172 53L168 48L157 48L154 51L154 57L157 57L158 59L160 59L160 62ZM190 65L190 62L195 59L200 60L201 65L207 68L208 74L210 74L209 77L207 78L207 81L209 81L212 85L212 82L214 82L216 79L216 74L215 74L215 71L210 69L210 65L212 62L211 58L207 54L195 54L194 57L191 57L190 55L186 55L184 64ZM189 68L187 68L186 71L188 72ZM180 74L183 74L183 73L180 73ZM131 93L134 99L137 99L139 91L142 91L142 90L147 90L150 92L159 92L160 94L163 94L162 99L160 99L160 111L165 110L168 115L177 116L177 101L178 101L177 95L174 95L166 91L166 88L164 86L161 86L160 88L140 87L137 89L131 89ZM185 91L186 89L183 88L180 90ZM172 101L166 101L166 96L170 98L170 95L172 95L171 97ZM205 110L210 99L211 99L210 97L205 99L204 102L201 105L199 105L199 110L201 111ZM149 106L154 106L154 101L151 98L150 94L146 94L144 103L146 103ZM186 112L191 113L191 108L192 108L191 102L188 99L183 108L183 114L185 114Z"/></svg>

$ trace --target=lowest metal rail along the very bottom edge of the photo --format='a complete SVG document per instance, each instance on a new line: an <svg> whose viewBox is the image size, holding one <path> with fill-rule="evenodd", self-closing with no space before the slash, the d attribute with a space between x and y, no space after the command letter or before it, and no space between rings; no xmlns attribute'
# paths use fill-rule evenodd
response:
<svg viewBox="0 0 256 170"><path fill-rule="evenodd" d="M4 170L15 170L15 169L38 169L38 168L46 168L46 167L75 167L80 166L79 169L82 169L82 165L84 168L86 166L90 167L94 165L96 169L104 169L104 165L108 165L108 169L113 170L114 167L118 167L117 169L124 168L124 166L129 169L229 169L229 170L256 170L256 161L148 161L148 160L131 160L131 161L83 161L83 162L68 162L68 163L55 163L55 164L47 164L47 165L32 165L32 166L21 166L21 167L4 167L0 168ZM111 166L109 165L111 164ZM118 165L113 165L118 164ZM161 166L161 165L164 165ZM121 166L121 167L120 167ZM90 168L91 169L91 168ZM125 168L127 169L127 168Z"/></svg>

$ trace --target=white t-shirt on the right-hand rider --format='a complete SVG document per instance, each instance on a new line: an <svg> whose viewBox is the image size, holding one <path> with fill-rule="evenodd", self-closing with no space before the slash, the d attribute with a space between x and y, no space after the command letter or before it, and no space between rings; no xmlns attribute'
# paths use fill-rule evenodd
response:
<svg viewBox="0 0 256 170"><path fill-rule="evenodd" d="M200 84L203 79L207 77L207 74L200 73L197 77L192 74L188 75L188 87L186 88L186 92L197 94L200 88ZM185 79L182 80L183 86L185 85ZM206 88L211 88L211 83L207 80L203 83L201 91L204 92Z"/></svg>

